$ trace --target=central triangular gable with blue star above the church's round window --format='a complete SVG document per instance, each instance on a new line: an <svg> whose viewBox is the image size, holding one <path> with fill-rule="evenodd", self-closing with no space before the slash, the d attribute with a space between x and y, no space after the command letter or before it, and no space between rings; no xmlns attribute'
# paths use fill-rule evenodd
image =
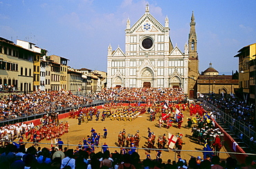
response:
<svg viewBox="0 0 256 169"><path fill-rule="evenodd" d="M145 33L145 32L165 32L164 27L159 23L152 14L145 13L134 26L131 26L129 33Z"/></svg>

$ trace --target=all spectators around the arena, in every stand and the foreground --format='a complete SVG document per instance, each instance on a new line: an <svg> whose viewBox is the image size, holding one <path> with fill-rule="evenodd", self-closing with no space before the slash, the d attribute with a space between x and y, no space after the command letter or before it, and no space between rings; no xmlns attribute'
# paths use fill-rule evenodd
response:
<svg viewBox="0 0 256 169"><path fill-rule="evenodd" d="M181 102L186 99L181 88L105 88L96 95L98 99L108 101L137 101L137 102ZM24 117L57 109L77 107L88 103L86 97L72 95L68 91L37 91L31 94L10 95L0 100L0 120ZM243 101L236 99L208 99L209 103L223 112L232 115L239 121L244 121L253 126L253 106L248 106ZM137 152L132 155L121 155L117 151L110 153L89 152L85 149L73 150L58 147L51 149L42 148L37 150L35 146L25 148L26 145L17 146L8 144L0 147L0 168L254 168L252 159L247 158L246 164L237 165L237 161L228 157L221 161L218 156L212 159L191 157L188 161L179 158L178 161L168 160L163 163L162 159L140 159ZM106 159L106 160L105 160ZM104 166L102 161L109 159L111 166ZM108 163L108 161L107 161ZM107 164L106 164L107 165Z"/></svg>

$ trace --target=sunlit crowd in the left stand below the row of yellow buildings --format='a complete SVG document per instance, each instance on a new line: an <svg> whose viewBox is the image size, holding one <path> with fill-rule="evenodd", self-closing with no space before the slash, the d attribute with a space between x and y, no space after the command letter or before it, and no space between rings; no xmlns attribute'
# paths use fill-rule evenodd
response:
<svg viewBox="0 0 256 169"><path fill-rule="evenodd" d="M88 103L86 97L72 95L71 92L37 91L29 94L13 94L4 96L0 100L0 120L15 119L57 109L72 108Z"/></svg>

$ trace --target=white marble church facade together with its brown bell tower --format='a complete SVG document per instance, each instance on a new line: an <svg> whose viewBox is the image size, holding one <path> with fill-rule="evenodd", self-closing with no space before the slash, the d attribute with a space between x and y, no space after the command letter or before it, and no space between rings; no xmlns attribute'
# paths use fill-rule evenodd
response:
<svg viewBox="0 0 256 169"><path fill-rule="evenodd" d="M125 52L120 47L108 47L107 87L183 88L193 97L199 76L196 44L193 13L188 43L182 51L171 41L168 17L163 26L147 6L133 26L127 19Z"/></svg>

